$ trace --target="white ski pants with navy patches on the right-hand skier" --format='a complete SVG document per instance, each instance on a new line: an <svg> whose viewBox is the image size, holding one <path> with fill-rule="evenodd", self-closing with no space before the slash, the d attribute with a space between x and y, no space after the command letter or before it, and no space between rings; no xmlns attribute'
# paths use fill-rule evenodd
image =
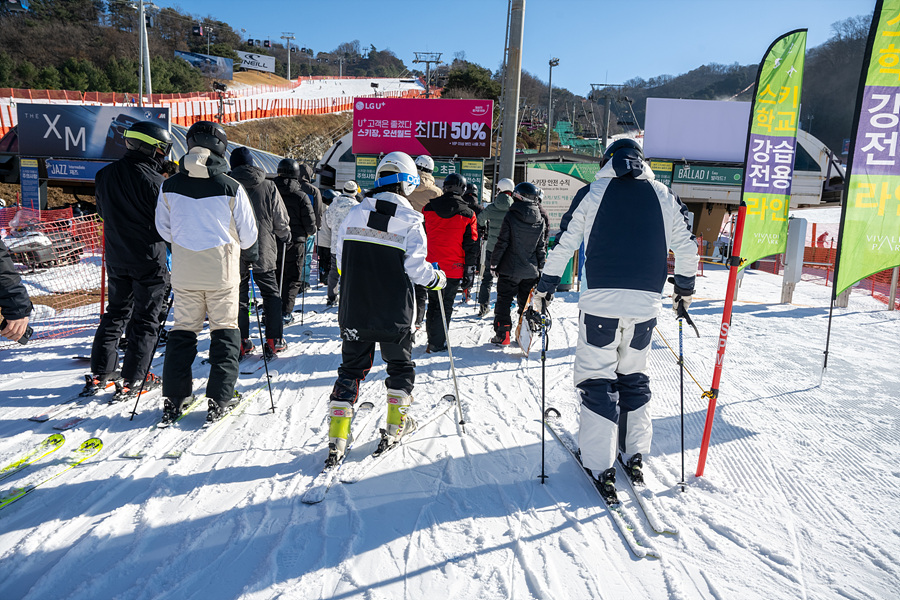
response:
<svg viewBox="0 0 900 600"><path fill-rule="evenodd" d="M603 317L582 312L575 353L581 394L578 445L595 475L612 467L616 447L626 459L650 452L647 355L656 318Z"/></svg>

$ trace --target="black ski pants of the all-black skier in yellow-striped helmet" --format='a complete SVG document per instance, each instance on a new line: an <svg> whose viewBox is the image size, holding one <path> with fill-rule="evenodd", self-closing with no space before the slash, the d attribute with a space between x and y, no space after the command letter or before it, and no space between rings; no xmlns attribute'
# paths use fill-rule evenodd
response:
<svg viewBox="0 0 900 600"><path fill-rule="evenodd" d="M108 303L94 334L91 372L106 375L116 370L119 337L131 321L122 359L122 378L142 381L153 360L159 315L169 289L169 273L164 264L148 263L131 268L107 265L106 274Z"/></svg>

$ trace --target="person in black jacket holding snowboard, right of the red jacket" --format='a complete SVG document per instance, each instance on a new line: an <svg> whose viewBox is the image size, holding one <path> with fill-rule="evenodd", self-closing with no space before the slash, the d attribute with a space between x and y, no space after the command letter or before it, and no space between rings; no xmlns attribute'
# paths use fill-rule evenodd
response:
<svg viewBox="0 0 900 600"><path fill-rule="evenodd" d="M516 186L512 196L515 201L503 218L497 244L491 252L491 268L497 272L495 335L491 343L500 346L509 345L513 298L522 314L547 257L546 224L538 208L540 189L525 181Z"/></svg>

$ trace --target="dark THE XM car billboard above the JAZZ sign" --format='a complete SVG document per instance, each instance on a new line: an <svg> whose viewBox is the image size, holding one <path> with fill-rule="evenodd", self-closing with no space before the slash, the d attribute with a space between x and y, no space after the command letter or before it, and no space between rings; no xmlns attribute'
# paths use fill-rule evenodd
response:
<svg viewBox="0 0 900 600"><path fill-rule="evenodd" d="M169 109L139 106L19 104L19 154L110 158L125 154L125 130L138 121L169 127Z"/></svg>

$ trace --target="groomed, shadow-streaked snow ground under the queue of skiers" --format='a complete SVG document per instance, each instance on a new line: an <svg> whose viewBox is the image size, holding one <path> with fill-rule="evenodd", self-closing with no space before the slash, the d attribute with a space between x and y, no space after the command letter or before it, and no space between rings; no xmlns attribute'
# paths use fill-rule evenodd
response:
<svg viewBox="0 0 900 600"><path fill-rule="evenodd" d="M306 307L320 312L286 329L290 346L272 363L275 414L262 393L177 461L160 457L168 444L138 461L121 454L159 417L158 399L144 401L133 421L130 407L83 409L89 418L38 467L91 436L103 439L102 452L0 511L0 598L896 598L900 315L861 293L836 309L820 384L831 289L801 282L795 304L779 305L780 279L749 273L698 479L700 386L711 380L725 281L707 265L691 306L701 337L684 333L684 493L678 369L667 346L677 351L678 333L668 309L653 340L646 468L658 515L680 533L656 535L639 521L637 534L662 560L631 554L549 435L549 479L540 483L540 353L524 359L490 346L489 320L471 305L457 306L451 327L466 434L448 413L362 480L303 504L325 457L326 400L340 362L336 315L321 313L319 289ZM547 399L573 430L576 295L561 294L551 311ZM2 352L0 466L60 422L28 417L80 389L86 365L70 357L89 343L82 335ZM201 356L207 347L204 335ZM413 410L426 419L452 391L449 362L424 354L422 342L414 356ZM199 363L198 386L207 369ZM255 389L258 373L242 376L241 388ZM379 422L383 378L376 360L361 391ZM182 423L193 430L202 420L201 411ZM375 427L355 431L355 460L372 449Z"/></svg>

